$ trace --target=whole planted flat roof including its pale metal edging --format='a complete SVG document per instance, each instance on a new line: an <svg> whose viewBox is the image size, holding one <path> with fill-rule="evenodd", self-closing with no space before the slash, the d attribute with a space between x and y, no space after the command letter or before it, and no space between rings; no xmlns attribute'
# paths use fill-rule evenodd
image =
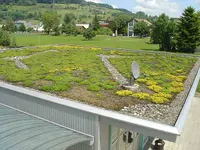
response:
<svg viewBox="0 0 200 150"><path fill-rule="evenodd" d="M185 54L58 45L6 50L0 58L0 78L16 85L0 83L8 95L61 104L99 115L106 124L171 141L181 133L200 78L200 59ZM133 60L145 74L138 81L141 91L127 94L120 85Z"/></svg>

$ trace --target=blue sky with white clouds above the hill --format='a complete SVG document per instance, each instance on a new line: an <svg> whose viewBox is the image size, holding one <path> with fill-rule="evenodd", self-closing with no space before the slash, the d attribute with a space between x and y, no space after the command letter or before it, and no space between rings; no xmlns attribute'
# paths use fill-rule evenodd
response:
<svg viewBox="0 0 200 150"><path fill-rule="evenodd" d="M200 10L200 0L86 0L107 3L115 8L125 8L132 12L143 11L149 15L166 13L170 17L180 17L183 10L192 6Z"/></svg>

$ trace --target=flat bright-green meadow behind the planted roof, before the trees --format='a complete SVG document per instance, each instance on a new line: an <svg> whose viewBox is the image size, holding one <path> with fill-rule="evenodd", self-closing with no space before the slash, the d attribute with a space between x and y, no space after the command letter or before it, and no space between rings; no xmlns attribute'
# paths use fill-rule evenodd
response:
<svg viewBox="0 0 200 150"><path fill-rule="evenodd" d="M14 34L14 36L18 46L73 44L133 50L158 50L158 45L149 44L149 38L97 36L91 41L86 41L82 36L50 36L38 34Z"/></svg>

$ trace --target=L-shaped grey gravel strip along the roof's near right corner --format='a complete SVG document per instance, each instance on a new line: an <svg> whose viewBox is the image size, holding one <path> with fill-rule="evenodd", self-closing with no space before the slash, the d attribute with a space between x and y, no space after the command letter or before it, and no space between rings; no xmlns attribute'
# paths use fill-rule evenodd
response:
<svg viewBox="0 0 200 150"><path fill-rule="evenodd" d="M188 78L184 84L184 91L179 93L176 98L169 105L158 104L137 104L131 107L125 107L121 110L121 113L136 116L138 118L164 123L168 125L175 125L176 120L184 106L187 95L193 84L200 67L200 58L192 68L188 75Z"/></svg>

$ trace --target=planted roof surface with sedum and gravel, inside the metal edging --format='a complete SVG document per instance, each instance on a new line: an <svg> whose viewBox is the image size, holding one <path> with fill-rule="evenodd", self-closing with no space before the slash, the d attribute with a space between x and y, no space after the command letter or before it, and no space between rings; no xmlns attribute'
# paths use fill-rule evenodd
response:
<svg viewBox="0 0 200 150"><path fill-rule="evenodd" d="M183 55L183 56L182 56ZM138 62L138 88L131 90L130 69ZM103 50L83 46L41 46L0 53L0 80L174 125L200 66L184 54ZM124 86L125 85L125 86Z"/></svg>

